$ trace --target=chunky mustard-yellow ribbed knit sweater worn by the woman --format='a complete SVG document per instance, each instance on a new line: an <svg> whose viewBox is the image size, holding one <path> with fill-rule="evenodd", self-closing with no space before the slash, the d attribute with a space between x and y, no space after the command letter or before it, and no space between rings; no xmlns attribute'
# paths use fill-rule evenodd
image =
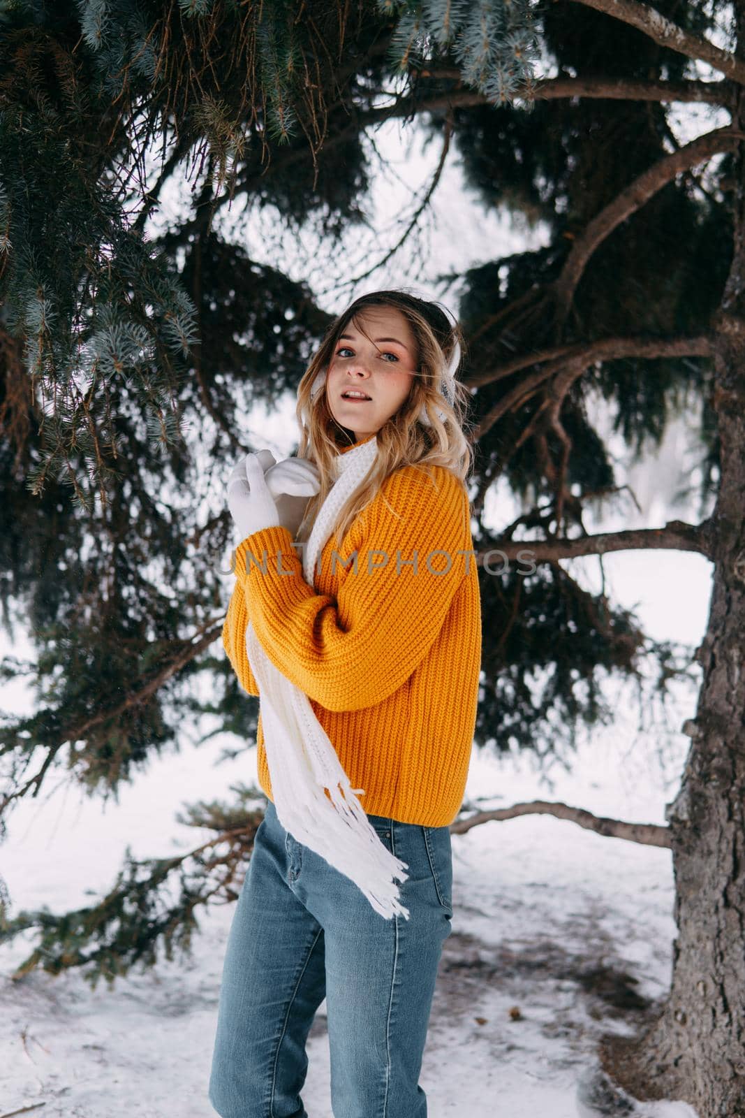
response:
<svg viewBox="0 0 745 1118"><path fill-rule="evenodd" d="M364 789L366 814L452 823L468 775L481 656L462 482L443 466L397 470L341 546L331 534L315 587L303 578L286 528L242 540L235 571L222 641L241 686L258 694L246 653L250 616L269 660L308 697L351 787ZM257 742L259 784L271 799L260 717Z"/></svg>

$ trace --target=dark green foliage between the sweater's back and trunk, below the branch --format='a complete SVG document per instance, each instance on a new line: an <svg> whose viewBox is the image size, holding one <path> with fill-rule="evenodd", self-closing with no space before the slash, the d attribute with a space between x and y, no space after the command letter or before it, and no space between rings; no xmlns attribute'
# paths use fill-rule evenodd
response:
<svg viewBox="0 0 745 1118"><path fill-rule="evenodd" d="M674 683L697 682L693 650L650 641L630 610L588 593L558 563L526 572L529 542L525 557L504 575L499 540L483 536L478 547L495 549L491 572L480 572L490 633L481 660L478 746L529 749L569 768L579 727L613 722L609 679L633 681L640 710L655 703L660 719L675 705Z"/></svg>

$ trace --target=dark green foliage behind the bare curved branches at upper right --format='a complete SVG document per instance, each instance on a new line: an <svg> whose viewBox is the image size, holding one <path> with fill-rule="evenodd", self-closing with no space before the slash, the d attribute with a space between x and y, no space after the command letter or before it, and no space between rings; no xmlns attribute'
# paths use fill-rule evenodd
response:
<svg viewBox="0 0 745 1118"><path fill-rule="evenodd" d="M703 9L662 7L696 34L713 30ZM560 77L577 80L675 80L686 59L609 16L577 6L572 18L553 6L542 15L543 41ZM429 89L428 89L429 92ZM462 277L461 319L467 335L478 335L472 371L498 370L517 353L552 344L697 337L709 329L732 259L732 218L726 186L733 157L707 169L706 188L693 173L666 183L632 216L604 237L590 255L573 293L571 314L557 324L554 286L567 256L588 224L640 174L670 151L670 106L642 100L561 97L537 102L532 113L513 106L455 110L455 143L468 181L490 209L520 214L539 228L545 247L532 248L468 269ZM441 126L433 114L429 129ZM515 314L510 307L516 307ZM538 366L495 379L479 389L477 416L509 398L522 376ZM700 508L715 493L716 442L707 430L711 361L675 358L605 358L589 363L565 398L562 423L571 428L571 454L564 483L581 492L612 489L612 468L592 424L590 401L602 399L614 428L634 454L662 438L671 416L691 400L703 405ZM479 439L481 489L505 474L524 499L550 492L545 463L523 432L539 415L541 392L509 408ZM554 461L561 446L553 433Z"/></svg>

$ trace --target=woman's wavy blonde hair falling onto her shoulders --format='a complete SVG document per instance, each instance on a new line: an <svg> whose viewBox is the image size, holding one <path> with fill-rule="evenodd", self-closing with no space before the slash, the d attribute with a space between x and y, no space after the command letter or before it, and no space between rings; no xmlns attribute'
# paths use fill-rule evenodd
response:
<svg viewBox="0 0 745 1118"><path fill-rule="evenodd" d="M433 484L434 479L427 467L445 466L460 479L464 486L472 468L471 442L466 434L470 394L456 379L450 405L438 389L440 378L455 354L456 343L460 347L458 368L462 361L466 345L460 325L450 321L440 304L407 291L375 291L361 295L332 322L297 390L296 415L302 432L297 456L316 465L321 482L318 493L308 500L297 534L300 541L307 540L316 513L334 484L332 463L340 447L355 442L354 432L334 419L326 387L317 391L313 400L311 389L317 373L329 367L345 328L370 306L390 306L407 319L417 342L417 371L408 398L376 433L379 453L371 472L338 512L333 529L337 541L341 543L354 519L376 496L385 480L402 466L421 467ZM364 332L359 322L354 324ZM457 373L458 369L455 369L456 378ZM418 419L422 406L427 409L431 427ZM443 413L445 419L439 418L438 410Z"/></svg>

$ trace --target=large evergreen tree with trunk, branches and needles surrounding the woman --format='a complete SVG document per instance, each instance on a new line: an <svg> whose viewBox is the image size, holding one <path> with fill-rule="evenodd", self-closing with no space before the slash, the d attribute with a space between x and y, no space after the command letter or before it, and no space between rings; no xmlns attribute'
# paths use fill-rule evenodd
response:
<svg viewBox="0 0 745 1118"><path fill-rule="evenodd" d="M52 770L114 793L178 740L182 718L207 712L190 694L203 669L223 682L209 708L219 728L255 727L254 700L214 646L225 603L213 569L231 529L222 508L195 517L203 479L183 420L199 420L223 470L242 448L233 400L292 391L327 316L304 285L216 236L212 217L238 195L298 227L317 219L333 240L363 218L365 129L417 117L445 134L443 155L458 149L487 207L551 234L545 248L452 277L476 390L480 562L491 549L517 561L526 547L537 562L529 576L481 579L476 741L569 757L581 726L611 717L606 673L640 680L651 663L660 697L676 679L700 681L668 826L596 821L670 846L678 922L669 997L640 1035L608 1038L603 1062L639 1097L743 1118L742 3L378 0L350 15L184 0L175 16L103 2L6 3L3 16L0 600L9 632L25 610L39 656L2 665L6 678L30 675L37 705L4 719L0 819ZM536 78L536 45L554 77ZM724 76L705 78L697 63ZM376 94L397 83L381 108ZM670 114L681 103L729 120L680 144ZM154 143L169 151L160 170ZM189 164L200 168L193 215L149 244L147 214ZM589 503L619 495L591 419L598 394L639 453L689 401L700 406L698 523L588 533ZM484 501L503 476L525 512L495 537ZM161 493L179 486L189 500L164 505ZM710 560L695 654L650 641L558 562L631 548ZM178 598L164 593L176 584ZM103 697L95 707L92 695ZM3 935L37 928L28 967L80 966L94 983L152 963L161 944L188 948L195 909L225 899L237 849L250 852L256 789L237 793L233 807L193 809L214 832L209 858L127 859L99 903L21 912ZM170 908L169 880L180 883Z"/></svg>

